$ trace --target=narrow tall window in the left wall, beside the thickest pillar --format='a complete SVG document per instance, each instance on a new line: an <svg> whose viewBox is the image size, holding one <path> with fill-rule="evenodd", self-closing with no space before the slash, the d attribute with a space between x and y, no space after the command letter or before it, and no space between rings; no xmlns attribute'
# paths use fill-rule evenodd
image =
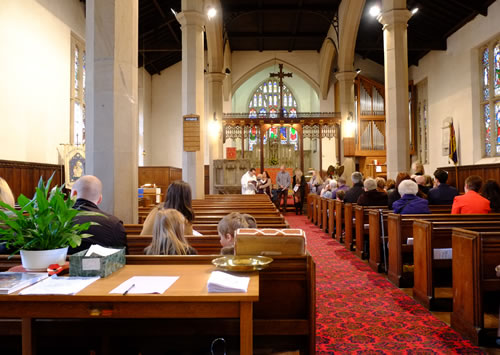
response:
<svg viewBox="0 0 500 355"><path fill-rule="evenodd" d="M71 36L70 142L85 144L85 44Z"/></svg>

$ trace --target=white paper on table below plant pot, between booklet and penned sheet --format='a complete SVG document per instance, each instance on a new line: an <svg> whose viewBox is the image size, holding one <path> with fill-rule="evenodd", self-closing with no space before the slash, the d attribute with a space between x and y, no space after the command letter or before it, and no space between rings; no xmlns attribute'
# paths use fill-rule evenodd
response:
<svg viewBox="0 0 500 355"><path fill-rule="evenodd" d="M31 287L25 288L21 295L74 295L91 283L99 280L95 277L58 277L51 276Z"/></svg>

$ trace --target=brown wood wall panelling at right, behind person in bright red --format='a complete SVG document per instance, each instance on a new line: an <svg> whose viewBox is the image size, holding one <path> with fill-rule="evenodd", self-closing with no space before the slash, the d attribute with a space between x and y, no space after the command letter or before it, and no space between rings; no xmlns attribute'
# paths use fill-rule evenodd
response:
<svg viewBox="0 0 500 355"><path fill-rule="evenodd" d="M465 179L471 175L480 176L483 182L490 179L500 182L500 164L461 165L456 168L454 166L445 166L438 169L448 172L448 184L455 186L459 192L464 192ZM427 172L429 175L433 173L434 171Z"/></svg>

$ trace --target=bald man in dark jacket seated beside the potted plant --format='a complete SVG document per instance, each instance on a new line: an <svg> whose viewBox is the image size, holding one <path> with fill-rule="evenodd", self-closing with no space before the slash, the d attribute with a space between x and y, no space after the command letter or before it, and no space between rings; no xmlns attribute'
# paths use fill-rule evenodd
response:
<svg viewBox="0 0 500 355"><path fill-rule="evenodd" d="M87 230L92 237L82 239L79 247L69 250L70 254L88 249L92 244L103 247L123 248L127 246L127 234L123 222L115 216L107 214L97 205L102 202L102 183L93 175L84 175L79 178L71 189L71 197L76 196L74 209L79 211L98 212L102 216L77 216L75 223L97 222L99 225L90 226Z"/></svg>

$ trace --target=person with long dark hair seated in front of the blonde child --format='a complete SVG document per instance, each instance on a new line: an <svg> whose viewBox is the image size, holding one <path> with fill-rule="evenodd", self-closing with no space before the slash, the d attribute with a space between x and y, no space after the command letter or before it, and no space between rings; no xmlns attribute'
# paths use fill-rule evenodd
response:
<svg viewBox="0 0 500 355"><path fill-rule="evenodd" d="M184 234L193 234L193 220L194 211L191 207L192 197L191 197L191 186L184 181L174 181L170 184L165 194L165 202L160 203L158 206L154 207L142 227L141 235L152 235L153 226L155 223L155 217L159 210L173 208L174 210L182 213L186 219L186 226L184 228Z"/></svg>

